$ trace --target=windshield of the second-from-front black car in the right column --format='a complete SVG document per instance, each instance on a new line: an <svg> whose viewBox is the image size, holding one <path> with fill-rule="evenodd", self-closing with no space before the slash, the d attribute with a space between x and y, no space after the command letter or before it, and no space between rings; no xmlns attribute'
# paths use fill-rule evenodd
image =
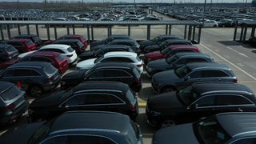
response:
<svg viewBox="0 0 256 144"><path fill-rule="evenodd" d="M194 92L192 86L187 86L185 89L178 91L177 97L182 103L189 106L198 98L198 94Z"/></svg>

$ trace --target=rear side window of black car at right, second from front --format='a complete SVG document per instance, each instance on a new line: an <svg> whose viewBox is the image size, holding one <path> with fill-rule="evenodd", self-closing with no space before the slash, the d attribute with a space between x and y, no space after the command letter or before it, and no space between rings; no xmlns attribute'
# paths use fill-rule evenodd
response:
<svg viewBox="0 0 256 144"><path fill-rule="evenodd" d="M249 99L239 95L220 95L218 96L218 106L226 105L252 105Z"/></svg>

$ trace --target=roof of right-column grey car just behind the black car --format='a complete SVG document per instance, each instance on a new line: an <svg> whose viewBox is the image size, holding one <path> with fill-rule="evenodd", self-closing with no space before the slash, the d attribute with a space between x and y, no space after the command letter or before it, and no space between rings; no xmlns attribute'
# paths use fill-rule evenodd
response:
<svg viewBox="0 0 256 144"><path fill-rule="evenodd" d="M230 70L229 66L226 66L223 63L217 63L217 62L189 62L186 64L190 68L190 70L195 69L209 69L209 68L215 68L215 69L226 69Z"/></svg>

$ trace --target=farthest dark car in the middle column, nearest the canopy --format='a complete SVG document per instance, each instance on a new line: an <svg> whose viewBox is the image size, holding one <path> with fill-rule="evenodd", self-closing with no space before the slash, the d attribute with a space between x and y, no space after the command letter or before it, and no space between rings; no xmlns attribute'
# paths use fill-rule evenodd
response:
<svg viewBox="0 0 256 144"><path fill-rule="evenodd" d="M126 34L113 34L101 41L90 42L90 48L93 48L94 46L98 46L98 45L106 45L107 43L113 41L114 39L133 39L133 38L131 38L129 35L126 35Z"/></svg>

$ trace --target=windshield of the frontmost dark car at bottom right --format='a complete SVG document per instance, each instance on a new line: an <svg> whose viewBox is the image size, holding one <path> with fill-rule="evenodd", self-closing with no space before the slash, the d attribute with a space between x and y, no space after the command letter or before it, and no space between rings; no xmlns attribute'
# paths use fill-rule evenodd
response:
<svg viewBox="0 0 256 144"><path fill-rule="evenodd" d="M193 125L194 133L202 143L225 143L231 137L219 124L216 117L210 117Z"/></svg>

